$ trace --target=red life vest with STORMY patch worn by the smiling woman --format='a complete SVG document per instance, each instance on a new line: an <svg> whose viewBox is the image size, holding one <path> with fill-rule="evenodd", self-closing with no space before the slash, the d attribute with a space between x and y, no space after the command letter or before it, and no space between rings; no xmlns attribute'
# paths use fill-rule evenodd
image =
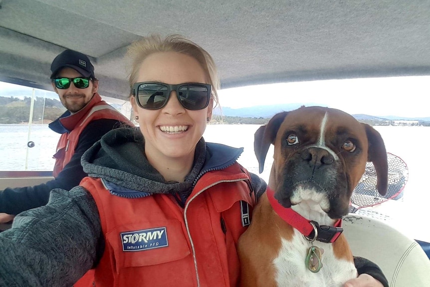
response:
<svg viewBox="0 0 430 287"><path fill-rule="evenodd" d="M255 205L243 170L235 163L206 173L185 208L172 195L122 198L84 178L106 242L95 286L237 286L236 244Z"/></svg>

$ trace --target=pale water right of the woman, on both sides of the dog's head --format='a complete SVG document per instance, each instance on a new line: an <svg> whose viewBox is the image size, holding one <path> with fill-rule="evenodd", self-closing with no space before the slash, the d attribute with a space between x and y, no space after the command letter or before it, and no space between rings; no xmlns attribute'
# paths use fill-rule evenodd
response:
<svg viewBox="0 0 430 287"><path fill-rule="evenodd" d="M237 160L250 172L258 174L258 162L254 155L254 133L260 125L208 125L205 140L244 147ZM430 191L427 178L430 152L430 127L422 126L375 126L385 142L388 152L402 158L408 165L409 180L400 200L389 200L368 208L371 212L388 215L386 223L394 226L413 239L430 242L427 220L430 218ZM264 171L260 174L266 182L273 163L273 146L267 152Z"/></svg>

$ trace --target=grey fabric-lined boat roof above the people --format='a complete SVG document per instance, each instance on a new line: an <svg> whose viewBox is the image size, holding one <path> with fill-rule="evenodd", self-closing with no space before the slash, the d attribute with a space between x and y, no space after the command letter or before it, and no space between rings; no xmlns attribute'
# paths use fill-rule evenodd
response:
<svg viewBox="0 0 430 287"><path fill-rule="evenodd" d="M430 74L429 0L0 0L0 81L52 90L65 48L99 92L128 96L127 46L178 33L215 59L221 87Z"/></svg>

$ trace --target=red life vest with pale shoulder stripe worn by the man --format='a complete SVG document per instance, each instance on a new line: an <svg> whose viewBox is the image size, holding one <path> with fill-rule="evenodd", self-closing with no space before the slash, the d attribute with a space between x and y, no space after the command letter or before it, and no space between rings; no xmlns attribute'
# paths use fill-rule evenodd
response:
<svg viewBox="0 0 430 287"><path fill-rule="evenodd" d="M70 132L63 133L58 140L56 153L54 154L55 165L52 172L54 177L57 177L75 153L82 130L90 122L98 119L113 119L134 126L123 114L103 101L98 93L95 93L83 109L59 119L61 124Z"/></svg>

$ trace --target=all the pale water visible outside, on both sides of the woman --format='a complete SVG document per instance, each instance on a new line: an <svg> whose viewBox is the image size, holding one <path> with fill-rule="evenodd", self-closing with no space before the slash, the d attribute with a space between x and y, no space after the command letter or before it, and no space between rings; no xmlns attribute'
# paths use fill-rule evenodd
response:
<svg viewBox="0 0 430 287"><path fill-rule="evenodd" d="M260 125L208 125L204 138L233 147L244 147L237 160L250 172L258 174L258 162L254 155L254 133ZM376 126L384 138L387 151L401 157L409 168L409 181L401 200L390 200L375 208L388 214L397 228L415 239L430 242L430 231L426 228L430 207L430 192L427 183L430 153L430 127L421 126ZM27 125L0 125L0 170L52 170L52 155L59 134L47 125L32 125L30 140L35 143L27 148ZM28 151L27 151L28 150ZM27 156L28 152L28 156ZM270 147L264 171L260 174L266 182L273 162L273 147Z"/></svg>

